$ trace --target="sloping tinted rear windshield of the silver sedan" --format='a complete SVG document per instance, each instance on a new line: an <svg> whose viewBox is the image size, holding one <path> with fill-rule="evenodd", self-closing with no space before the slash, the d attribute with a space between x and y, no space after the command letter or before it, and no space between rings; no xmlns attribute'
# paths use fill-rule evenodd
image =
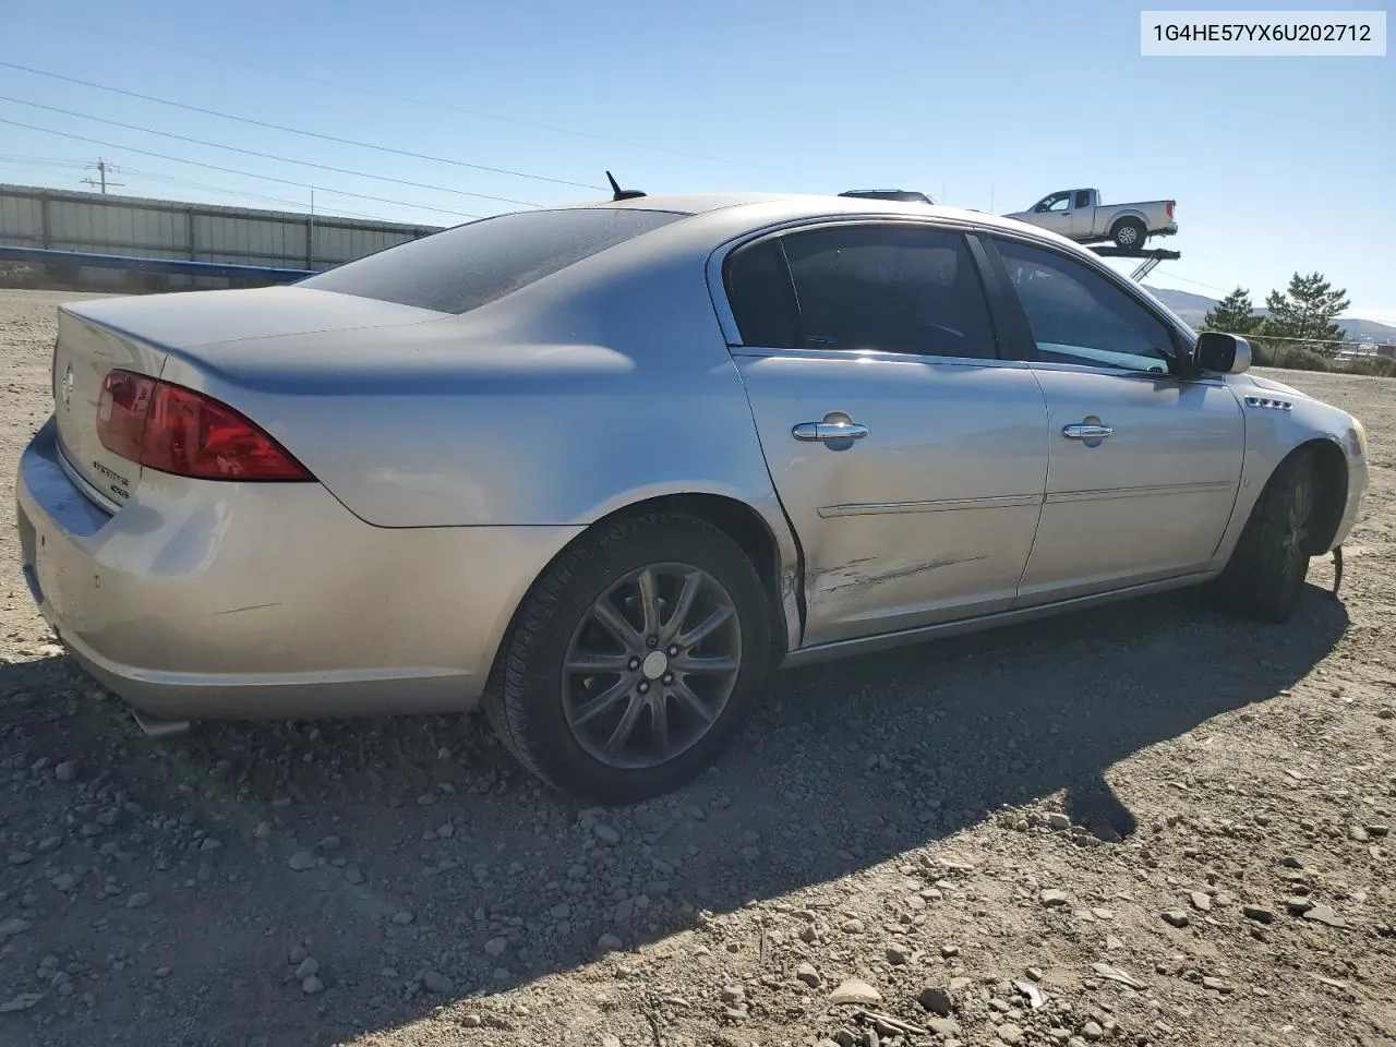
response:
<svg viewBox="0 0 1396 1047"><path fill-rule="evenodd" d="M630 208L497 215L346 262L299 286L438 313L468 313L687 216Z"/></svg>

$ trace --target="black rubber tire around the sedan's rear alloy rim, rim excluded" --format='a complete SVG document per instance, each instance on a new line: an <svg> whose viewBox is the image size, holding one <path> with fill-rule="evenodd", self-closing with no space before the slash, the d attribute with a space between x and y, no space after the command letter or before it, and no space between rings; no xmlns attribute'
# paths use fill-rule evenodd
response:
<svg viewBox="0 0 1396 1047"><path fill-rule="evenodd" d="M729 637L740 638L733 659L737 669L729 677L734 683L725 705L687 750L649 766L620 768L596 758L581 729L571 726L570 715L577 709L568 706L564 685L572 687L578 673L564 673L564 664L577 637L595 621L599 602L611 599L607 593L613 586L652 565L697 568L730 596L736 623L725 628L730 628ZM597 528L544 571L515 614L483 704L504 745L533 775L586 803L631 804L671 792L716 762L755 711L769 663L768 602L741 546L702 519L651 512ZM653 681L656 691L659 683ZM616 704L630 701L634 698L627 695ZM673 708L667 697L659 701ZM653 732L653 713L641 715Z"/></svg>

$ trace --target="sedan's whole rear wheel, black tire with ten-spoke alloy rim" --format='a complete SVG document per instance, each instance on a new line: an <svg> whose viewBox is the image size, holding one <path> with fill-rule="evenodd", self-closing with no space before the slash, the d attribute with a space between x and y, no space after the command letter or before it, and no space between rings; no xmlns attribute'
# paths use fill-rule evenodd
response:
<svg viewBox="0 0 1396 1047"><path fill-rule="evenodd" d="M755 567L705 521L604 525L535 584L486 695L529 771L581 800L637 803L712 765L768 667Z"/></svg>

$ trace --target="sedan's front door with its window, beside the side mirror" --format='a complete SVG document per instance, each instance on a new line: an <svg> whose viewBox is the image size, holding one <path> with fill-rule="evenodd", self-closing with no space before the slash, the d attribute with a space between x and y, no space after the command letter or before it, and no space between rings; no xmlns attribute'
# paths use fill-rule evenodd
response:
<svg viewBox="0 0 1396 1047"><path fill-rule="evenodd" d="M1019 606L1187 575L1231 518L1245 423L1219 378L1188 378L1171 328L1082 261L995 240L1032 332L1048 479Z"/></svg>

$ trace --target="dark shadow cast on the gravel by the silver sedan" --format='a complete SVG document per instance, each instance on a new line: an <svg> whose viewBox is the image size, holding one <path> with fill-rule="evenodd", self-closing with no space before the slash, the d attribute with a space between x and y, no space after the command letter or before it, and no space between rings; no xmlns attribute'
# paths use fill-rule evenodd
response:
<svg viewBox="0 0 1396 1047"><path fill-rule="evenodd" d="M176 949L186 935L215 941L172 977L216 981L219 1012L246 1016L222 1041L328 1043L579 966L603 934L634 948L1057 793L1075 824L1127 838L1136 815L1111 768L1289 688L1347 621L1312 586L1284 627L1175 593L793 670L719 766L617 811L539 789L477 718L205 725L151 741L59 659L0 667L15 704L0 745L77 752L99 766L92 790L140 801L144 821L124 825L145 846L119 872L154 881L130 889L156 905L176 889L186 900L155 926L119 912L109 933L141 951L159 935ZM200 826L216 850L191 835ZM121 831L74 833L68 847L101 870L91 852ZM163 863L151 864L149 836ZM339 994L328 1011L286 987L303 942L327 998ZM244 976L218 977L232 969ZM423 990L424 970L445 984ZM135 995L130 1007L162 1029Z"/></svg>

